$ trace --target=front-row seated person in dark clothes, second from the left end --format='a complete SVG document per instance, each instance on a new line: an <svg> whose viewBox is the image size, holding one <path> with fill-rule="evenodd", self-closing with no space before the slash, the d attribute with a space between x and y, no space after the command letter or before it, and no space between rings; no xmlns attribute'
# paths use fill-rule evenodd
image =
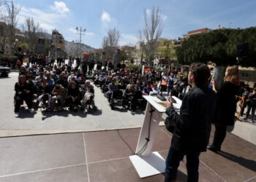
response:
<svg viewBox="0 0 256 182"><path fill-rule="evenodd" d="M46 101L48 101L48 107L47 109L50 109L50 103L51 103L51 87L47 84L46 79L42 78L42 85L39 86L39 93L38 93L38 103L39 106L42 106L42 108L45 108Z"/></svg>

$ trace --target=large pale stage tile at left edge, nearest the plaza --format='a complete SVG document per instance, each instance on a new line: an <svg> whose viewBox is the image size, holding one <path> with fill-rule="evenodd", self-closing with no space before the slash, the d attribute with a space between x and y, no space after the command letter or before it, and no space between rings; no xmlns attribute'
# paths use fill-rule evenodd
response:
<svg viewBox="0 0 256 182"><path fill-rule="evenodd" d="M83 133L0 138L0 176L86 163Z"/></svg>

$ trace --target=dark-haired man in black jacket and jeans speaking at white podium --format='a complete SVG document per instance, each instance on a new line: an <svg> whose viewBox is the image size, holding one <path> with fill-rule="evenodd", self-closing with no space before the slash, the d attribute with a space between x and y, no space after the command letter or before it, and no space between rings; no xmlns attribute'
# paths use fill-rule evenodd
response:
<svg viewBox="0 0 256 182"><path fill-rule="evenodd" d="M176 124L166 159L165 182L176 181L178 165L187 156L187 181L198 181L200 152L206 151L211 122L217 106L217 95L208 88L210 69L203 63L192 63L188 82L192 86L184 95L180 114L167 99L168 122Z"/></svg>

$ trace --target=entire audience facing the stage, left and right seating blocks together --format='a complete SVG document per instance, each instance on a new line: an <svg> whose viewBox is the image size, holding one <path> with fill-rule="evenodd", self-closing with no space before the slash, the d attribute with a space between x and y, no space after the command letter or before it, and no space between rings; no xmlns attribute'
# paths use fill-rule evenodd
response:
<svg viewBox="0 0 256 182"><path fill-rule="evenodd" d="M37 106L47 111L59 111L65 107L71 111L94 108L94 87L86 80L90 73L94 84L101 88L109 102L113 99L113 92L119 90L123 106L132 111L139 106L146 108L146 100L143 100L142 95L167 91L182 99L190 89L186 79L182 76L177 79L170 71L159 74L152 69L142 75L140 71L125 66L114 69L99 64L96 70L89 66L90 63L80 61L75 65L70 58L69 64L21 66L18 82L15 84L15 116L19 116L23 101L31 113L34 112L33 100L36 100ZM159 75L162 79L159 79Z"/></svg>

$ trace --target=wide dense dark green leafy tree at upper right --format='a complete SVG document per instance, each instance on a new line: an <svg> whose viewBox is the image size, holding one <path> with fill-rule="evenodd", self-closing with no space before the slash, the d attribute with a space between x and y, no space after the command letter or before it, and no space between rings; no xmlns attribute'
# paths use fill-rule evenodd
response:
<svg viewBox="0 0 256 182"><path fill-rule="evenodd" d="M249 52L243 58L241 66L256 66L256 27L245 29L215 30L190 36L176 50L179 63L207 63L217 66L236 65L237 45L249 43Z"/></svg>

